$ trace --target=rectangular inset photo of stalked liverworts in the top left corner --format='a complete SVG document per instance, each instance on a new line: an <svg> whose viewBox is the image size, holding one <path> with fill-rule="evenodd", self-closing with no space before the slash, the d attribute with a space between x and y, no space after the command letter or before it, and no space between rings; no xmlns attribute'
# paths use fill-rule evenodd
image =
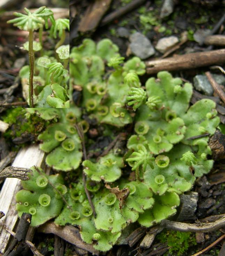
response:
<svg viewBox="0 0 225 256"><path fill-rule="evenodd" d="M0 10L0 112L69 108L69 0L2 0Z"/></svg>

